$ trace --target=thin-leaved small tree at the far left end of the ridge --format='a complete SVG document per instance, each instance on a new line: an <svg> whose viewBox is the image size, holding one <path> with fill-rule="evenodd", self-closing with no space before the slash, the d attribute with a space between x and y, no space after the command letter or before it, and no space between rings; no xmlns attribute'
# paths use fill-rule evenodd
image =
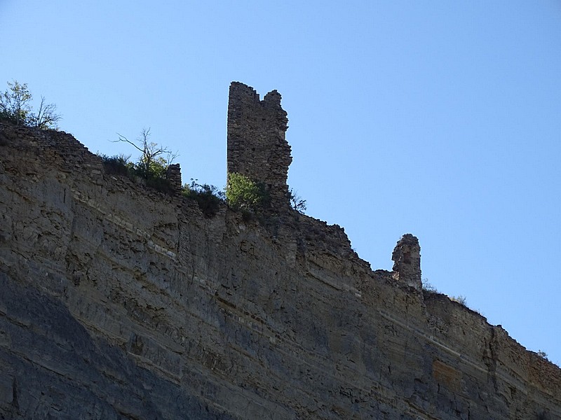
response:
<svg viewBox="0 0 561 420"><path fill-rule="evenodd" d="M55 104L46 104L45 97L41 97L39 110L35 114L29 103L33 97L27 83L21 85L17 80L8 82L8 90L0 94L0 120L8 121L15 125L37 127L41 130L57 128L60 115L55 111Z"/></svg>

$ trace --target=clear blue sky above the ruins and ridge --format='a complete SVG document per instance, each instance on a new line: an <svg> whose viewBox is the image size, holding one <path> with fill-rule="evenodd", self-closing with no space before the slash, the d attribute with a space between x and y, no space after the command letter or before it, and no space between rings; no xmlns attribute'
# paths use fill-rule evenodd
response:
<svg viewBox="0 0 561 420"><path fill-rule="evenodd" d="M151 127L222 187L229 83L277 89L307 214L561 363L561 2L0 0L0 90L92 152Z"/></svg>

